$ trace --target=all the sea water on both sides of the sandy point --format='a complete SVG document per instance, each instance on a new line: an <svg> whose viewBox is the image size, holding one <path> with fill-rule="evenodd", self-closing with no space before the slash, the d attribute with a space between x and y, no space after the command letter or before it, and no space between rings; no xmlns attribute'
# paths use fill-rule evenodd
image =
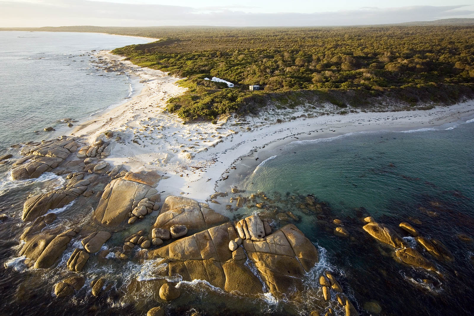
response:
<svg viewBox="0 0 474 316"><path fill-rule="evenodd" d="M5 43L0 49L2 154L18 151L11 144L66 134L71 128L58 120L84 120L139 89L133 78L97 69L90 54L94 49L145 40L48 32L0 32L0 39ZM56 131L42 131L46 126ZM271 158L264 162L247 159L245 163L253 160L253 164L245 172L230 174L232 183L246 190L245 196L265 194L262 201L267 206L265 210L245 206L227 215L239 219L257 211L283 214L279 225L296 225L319 251L319 263L306 276L305 285L319 287L319 274L329 269L361 315L377 315L368 311L374 301L382 308L380 315L472 315L474 247L457 235L473 236L474 231L473 135L474 120L465 117L428 129L295 141L268 152ZM65 261L81 240L74 239L61 262L42 273L27 269L24 258L18 257L18 236L27 226L21 221L27 195L61 187L64 179L45 173L38 179L11 181L10 167L0 165L0 213L9 215L8 221L0 222L0 315L145 315L149 308L163 304L157 303L152 282L159 266L141 264L139 258L104 265L98 256L91 256L88 269L80 273L87 279L86 286L74 298L55 298L54 284L73 274L65 268ZM308 199L316 201L320 211L308 210ZM90 199L55 212L61 213L61 225L83 227L91 222L96 205ZM217 205L213 208L219 210ZM390 249L363 231L361 219L366 216L394 229L400 222L411 223L421 235L442 241L455 261L439 262L423 253L439 274L395 262ZM142 221L141 228L149 227L154 218ZM334 219L341 224L335 225ZM350 237L334 235L336 226L344 227ZM129 233L114 234L108 244L123 243ZM404 239L417 247L413 237L405 234ZM94 298L88 283L99 276L112 284L112 290ZM181 289L186 295L163 305L167 315L191 315L193 311L203 315L308 315L306 307L312 305L276 301L270 295L239 297L202 281L182 282ZM124 299L126 292L132 294ZM342 315L344 310L338 307L336 312Z"/></svg>

